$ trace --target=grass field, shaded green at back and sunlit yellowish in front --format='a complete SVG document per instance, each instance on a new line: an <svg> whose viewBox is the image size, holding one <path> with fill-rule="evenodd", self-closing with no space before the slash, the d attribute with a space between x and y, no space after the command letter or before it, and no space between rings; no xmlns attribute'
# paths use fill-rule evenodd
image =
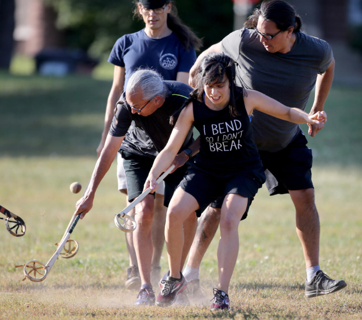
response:
<svg viewBox="0 0 362 320"><path fill-rule="evenodd" d="M229 292L232 311L209 311L218 276L217 237L200 270L205 304L133 307L137 292L123 285L125 235L113 222L125 207L115 163L98 188L92 211L72 233L80 245L76 256L59 258L43 282L21 281L22 268L14 265L49 260L83 192L72 194L69 185L79 181L85 187L89 180L110 86L109 80L81 76L0 74L0 205L27 227L25 236L13 237L0 226L0 319L362 318L361 88L334 86L325 106L327 124L308 138L321 220L320 265L332 278L345 279L346 289L305 298L294 207L288 195L269 197L262 188L239 226L240 251ZM161 266L162 272L168 268L165 249Z"/></svg>

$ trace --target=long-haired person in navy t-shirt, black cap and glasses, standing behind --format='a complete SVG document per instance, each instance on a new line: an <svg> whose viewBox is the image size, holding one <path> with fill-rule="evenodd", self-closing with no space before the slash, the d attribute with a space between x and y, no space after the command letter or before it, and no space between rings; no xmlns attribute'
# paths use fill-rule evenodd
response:
<svg viewBox="0 0 362 320"><path fill-rule="evenodd" d="M189 70L196 60L195 49L198 50L201 47L201 40L181 22L172 2L168 0L134 1L134 17L143 19L145 27L136 33L123 35L115 42L110 53L108 62L114 64L113 84L106 106L104 130L97 147L98 156L104 147L113 118L113 109L122 91L126 91L127 82L134 71L139 68L150 68L157 71L164 80L188 83ZM188 160L186 154L183 156L185 161ZM121 152L117 153L117 178L118 190L127 194ZM156 194L155 223L152 226L151 278L154 283L160 278L159 262L164 245L166 209L163 205L163 194L164 190L160 188ZM127 289L139 289L141 278L132 233L126 233L126 241L130 266L127 269L125 286Z"/></svg>

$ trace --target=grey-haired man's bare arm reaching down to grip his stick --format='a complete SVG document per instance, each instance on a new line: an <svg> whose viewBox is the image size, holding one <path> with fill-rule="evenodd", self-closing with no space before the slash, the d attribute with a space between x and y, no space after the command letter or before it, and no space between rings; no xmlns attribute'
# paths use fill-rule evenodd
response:
<svg viewBox="0 0 362 320"><path fill-rule="evenodd" d="M108 172L115 155L118 152L119 146L121 146L124 136L115 137L107 135L104 148L101 151L101 155L97 160L96 166L94 167L92 177L90 178L87 190L82 198L76 203L75 214L80 214L80 218L83 219L85 214L92 209L94 194L98 188L98 185L102 181L105 174Z"/></svg>

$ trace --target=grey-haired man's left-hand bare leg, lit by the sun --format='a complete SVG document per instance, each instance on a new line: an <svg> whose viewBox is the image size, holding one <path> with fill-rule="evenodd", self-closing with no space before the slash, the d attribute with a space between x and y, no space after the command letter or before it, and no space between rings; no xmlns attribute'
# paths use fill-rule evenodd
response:
<svg viewBox="0 0 362 320"><path fill-rule="evenodd" d="M155 200L153 195L147 195L136 205L137 228L133 232L133 243L136 250L139 273L142 285L151 285L151 260L152 260L152 219Z"/></svg>

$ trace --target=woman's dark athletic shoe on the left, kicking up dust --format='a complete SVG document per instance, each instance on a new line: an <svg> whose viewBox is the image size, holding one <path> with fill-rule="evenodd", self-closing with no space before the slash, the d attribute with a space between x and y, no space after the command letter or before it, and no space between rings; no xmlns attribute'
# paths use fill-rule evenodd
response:
<svg viewBox="0 0 362 320"><path fill-rule="evenodd" d="M161 292L157 296L156 306L168 307L176 300L176 295L186 289L186 281L181 273L181 280L167 276L165 280L160 281L162 285Z"/></svg>

